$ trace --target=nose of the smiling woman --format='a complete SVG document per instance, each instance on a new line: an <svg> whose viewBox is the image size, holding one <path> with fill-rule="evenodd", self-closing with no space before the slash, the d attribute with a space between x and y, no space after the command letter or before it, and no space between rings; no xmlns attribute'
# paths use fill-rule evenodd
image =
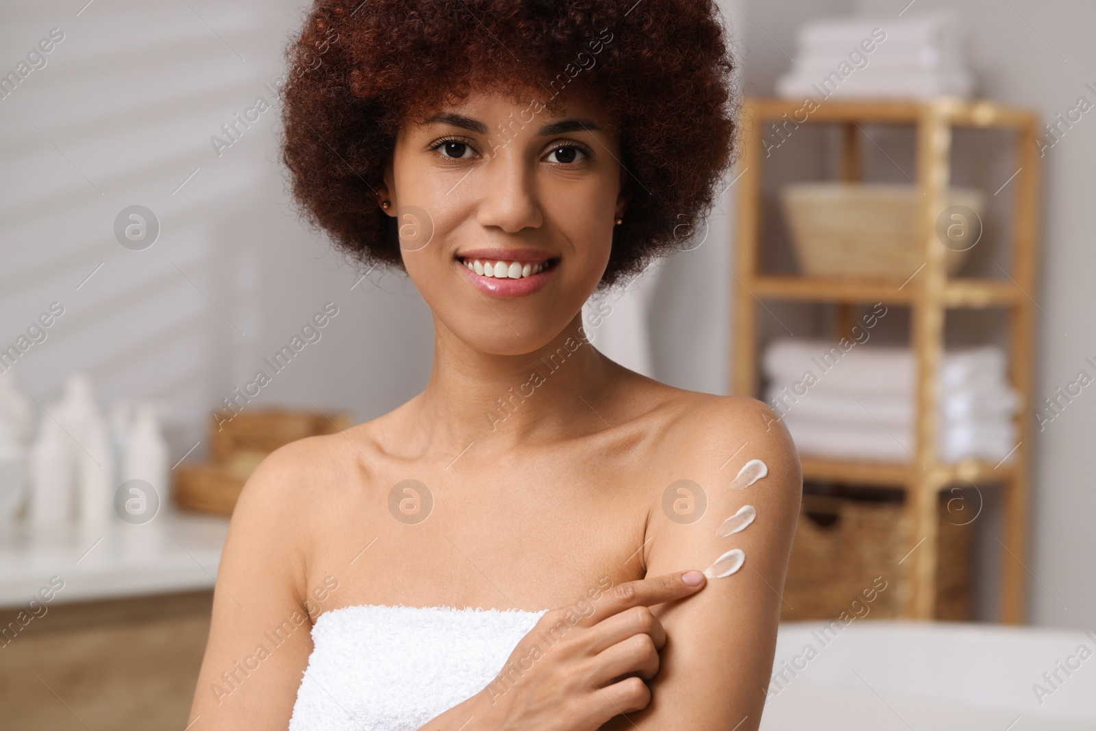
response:
<svg viewBox="0 0 1096 731"><path fill-rule="evenodd" d="M544 222L537 198L536 170L517 150L496 150L488 161L476 219L480 226L507 233Z"/></svg>

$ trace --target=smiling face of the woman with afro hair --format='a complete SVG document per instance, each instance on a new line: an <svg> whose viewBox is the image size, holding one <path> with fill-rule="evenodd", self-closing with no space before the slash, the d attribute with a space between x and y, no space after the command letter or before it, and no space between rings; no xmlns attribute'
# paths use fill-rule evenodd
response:
<svg viewBox="0 0 1096 731"><path fill-rule="evenodd" d="M532 353L574 321L626 207L605 111L573 95L553 116L536 90L522 96L472 92L402 125L378 191L435 323L498 355Z"/></svg>

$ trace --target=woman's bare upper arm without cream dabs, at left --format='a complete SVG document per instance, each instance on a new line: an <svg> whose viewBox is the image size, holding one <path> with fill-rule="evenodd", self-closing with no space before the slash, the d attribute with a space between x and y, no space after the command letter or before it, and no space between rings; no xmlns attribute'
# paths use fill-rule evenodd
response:
<svg viewBox="0 0 1096 731"><path fill-rule="evenodd" d="M307 442L269 455L232 513L189 719L194 731L289 723L312 648L300 521Z"/></svg>

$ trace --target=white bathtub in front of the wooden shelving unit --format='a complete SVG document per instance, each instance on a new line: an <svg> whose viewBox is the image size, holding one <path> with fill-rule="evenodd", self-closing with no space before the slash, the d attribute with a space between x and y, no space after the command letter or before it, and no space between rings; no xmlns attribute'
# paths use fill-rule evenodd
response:
<svg viewBox="0 0 1096 731"><path fill-rule="evenodd" d="M1096 730L1096 631L824 627L780 625L762 731Z"/></svg>

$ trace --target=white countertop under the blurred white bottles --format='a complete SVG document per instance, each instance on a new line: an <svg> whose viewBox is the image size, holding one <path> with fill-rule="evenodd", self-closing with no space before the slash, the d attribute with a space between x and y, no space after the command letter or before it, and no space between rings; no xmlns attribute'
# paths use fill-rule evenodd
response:
<svg viewBox="0 0 1096 731"><path fill-rule="evenodd" d="M91 535L4 526L0 607L25 607L53 576L65 585L50 604L213 589L227 534L228 517L170 506L145 525L118 521Z"/></svg>

